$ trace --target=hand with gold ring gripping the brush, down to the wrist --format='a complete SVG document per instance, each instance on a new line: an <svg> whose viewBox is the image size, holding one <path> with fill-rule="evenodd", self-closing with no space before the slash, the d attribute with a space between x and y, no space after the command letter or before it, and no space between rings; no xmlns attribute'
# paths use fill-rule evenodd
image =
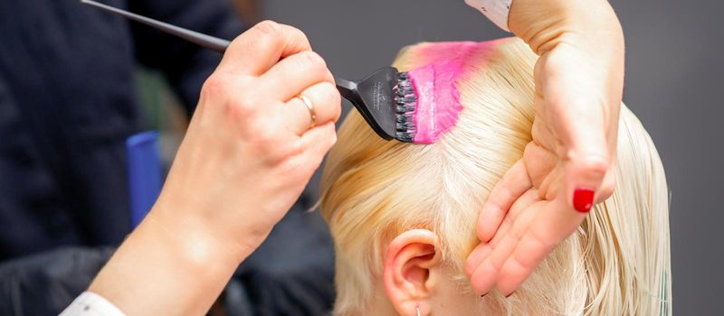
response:
<svg viewBox="0 0 724 316"><path fill-rule="evenodd" d="M299 96L310 99L311 113ZM206 80L154 216L194 218L229 246L262 242L336 141L340 97L299 30L261 23Z"/></svg>

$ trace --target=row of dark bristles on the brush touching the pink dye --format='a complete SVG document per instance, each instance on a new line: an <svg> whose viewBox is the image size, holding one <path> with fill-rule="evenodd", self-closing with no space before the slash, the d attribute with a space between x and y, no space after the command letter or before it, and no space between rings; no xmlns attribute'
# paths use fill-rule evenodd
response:
<svg viewBox="0 0 724 316"><path fill-rule="evenodd" d="M397 74L395 86L395 138L398 141L412 143L416 126L414 125L414 110L417 107L417 95L414 93L413 83L406 72Z"/></svg>

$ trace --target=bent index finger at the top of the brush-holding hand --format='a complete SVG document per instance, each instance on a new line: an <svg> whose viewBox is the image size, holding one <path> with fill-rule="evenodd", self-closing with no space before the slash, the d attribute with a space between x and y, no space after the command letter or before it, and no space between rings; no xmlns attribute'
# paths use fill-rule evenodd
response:
<svg viewBox="0 0 724 316"><path fill-rule="evenodd" d="M301 51L311 51L304 33L289 25L264 21L233 40L218 70L260 76L279 60Z"/></svg>

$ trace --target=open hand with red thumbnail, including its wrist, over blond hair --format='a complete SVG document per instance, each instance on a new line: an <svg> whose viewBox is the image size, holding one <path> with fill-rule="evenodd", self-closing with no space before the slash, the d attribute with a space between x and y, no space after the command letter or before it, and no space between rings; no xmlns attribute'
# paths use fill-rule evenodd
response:
<svg viewBox="0 0 724 316"><path fill-rule="evenodd" d="M466 272L514 293L614 190L624 37L605 0L514 0L510 29L540 58L533 141L481 210Z"/></svg>

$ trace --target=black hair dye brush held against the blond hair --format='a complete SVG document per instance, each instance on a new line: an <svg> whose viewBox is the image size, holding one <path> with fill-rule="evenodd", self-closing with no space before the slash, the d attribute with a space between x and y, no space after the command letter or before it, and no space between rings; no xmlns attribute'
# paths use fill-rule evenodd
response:
<svg viewBox="0 0 724 316"><path fill-rule="evenodd" d="M92 5L111 14L118 14L176 35L188 42L207 49L224 53L229 41L197 33L191 30L163 23L148 17L132 14L110 5L95 1L81 0L81 3ZM399 72L393 67L377 70L365 79L349 81L335 78L337 88L342 97L347 98L357 111L365 118L367 124L386 140L395 138L401 142L414 141L414 110L417 97L414 87L406 72Z"/></svg>

